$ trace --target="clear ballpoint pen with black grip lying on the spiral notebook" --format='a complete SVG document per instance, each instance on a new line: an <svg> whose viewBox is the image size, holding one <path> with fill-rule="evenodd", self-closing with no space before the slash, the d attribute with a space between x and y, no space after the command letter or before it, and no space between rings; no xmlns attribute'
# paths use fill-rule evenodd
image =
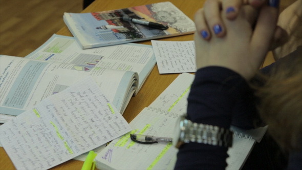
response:
<svg viewBox="0 0 302 170"><path fill-rule="evenodd" d="M155 136L148 136L148 135L137 135L137 134L130 134L131 140L142 143L142 144L152 144L158 142L172 142L172 138L167 137L155 137Z"/></svg>

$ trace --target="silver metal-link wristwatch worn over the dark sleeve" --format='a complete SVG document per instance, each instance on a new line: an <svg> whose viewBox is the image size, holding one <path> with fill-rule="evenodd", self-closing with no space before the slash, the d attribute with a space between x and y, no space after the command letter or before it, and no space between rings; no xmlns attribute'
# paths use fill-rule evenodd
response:
<svg viewBox="0 0 302 170"><path fill-rule="evenodd" d="M172 143L179 148L183 143L196 142L224 147L232 146L233 132L219 126L195 123L180 116Z"/></svg>

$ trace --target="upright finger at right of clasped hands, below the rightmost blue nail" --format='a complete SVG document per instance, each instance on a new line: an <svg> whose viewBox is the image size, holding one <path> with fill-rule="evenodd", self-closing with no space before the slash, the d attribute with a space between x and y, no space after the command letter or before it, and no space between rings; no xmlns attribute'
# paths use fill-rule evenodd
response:
<svg viewBox="0 0 302 170"><path fill-rule="evenodd" d="M251 47L255 52L262 54L268 51L275 32L278 10L265 6L260 10L258 20L251 38ZM262 56L259 56L262 57Z"/></svg>

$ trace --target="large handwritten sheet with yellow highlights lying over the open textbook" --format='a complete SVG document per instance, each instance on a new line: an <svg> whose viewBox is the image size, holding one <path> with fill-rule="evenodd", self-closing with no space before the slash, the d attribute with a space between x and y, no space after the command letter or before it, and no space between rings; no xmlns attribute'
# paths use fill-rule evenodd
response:
<svg viewBox="0 0 302 170"><path fill-rule="evenodd" d="M52 95L0 128L17 169L48 169L127 132L130 126L92 78Z"/></svg>

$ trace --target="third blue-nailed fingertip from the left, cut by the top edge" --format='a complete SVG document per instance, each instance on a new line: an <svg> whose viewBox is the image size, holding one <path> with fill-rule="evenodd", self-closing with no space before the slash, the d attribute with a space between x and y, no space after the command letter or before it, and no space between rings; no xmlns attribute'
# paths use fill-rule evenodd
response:
<svg viewBox="0 0 302 170"><path fill-rule="evenodd" d="M225 0L222 3L226 18L234 20L239 13L243 0Z"/></svg>

